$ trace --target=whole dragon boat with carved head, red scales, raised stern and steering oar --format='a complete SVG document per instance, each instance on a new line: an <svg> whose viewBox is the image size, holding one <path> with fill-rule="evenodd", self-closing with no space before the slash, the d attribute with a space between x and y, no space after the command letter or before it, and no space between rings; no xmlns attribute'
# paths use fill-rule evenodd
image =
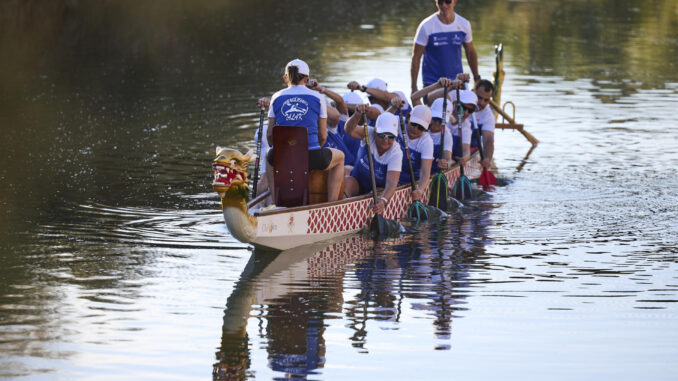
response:
<svg viewBox="0 0 678 381"><path fill-rule="evenodd" d="M515 105L512 102L506 102L504 107L500 107L501 86L505 75L503 54L503 45L500 43L495 46L496 71L493 73L495 91L490 104L495 111L495 118L501 115L504 120L502 123L496 123L496 129L517 130L532 143L532 148L534 148L539 141L525 131L522 124L515 122ZM513 117L509 116L504 110L507 105L513 108ZM286 130L290 129L286 128ZM274 146L279 149L287 149L285 147L288 147L288 144L275 142L275 128L273 133ZM289 140L289 146L295 146L295 149L298 150L297 153L276 154L276 159L282 156L297 159L302 156L305 157L305 154L299 155L299 152L305 152L304 149L307 149L299 144L304 141L306 141L305 136L297 136ZM212 187L221 197L221 208L228 230L240 242L252 244L260 249L288 250L356 233L364 228L373 217L370 211L372 204L370 194L333 202L314 202L317 200L310 197L305 199L309 201L307 205L277 207L275 209L267 208L265 202L269 196L277 199L277 194L271 195L267 192L248 201L250 189L247 165L254 159L255 156L251 152L242 154L237 150L218 147L217 157L212 164L214 173ZM470 180L478 179L480 176L482 172L480 160L480 153L475 151L464 166L464 174ZM274 167L279 168L277 164ZM311 171L310 176L313 176L313 172L316 171ZM450 187L457 181L460 173L458 164L443 172ZM295 177L296 180L293 180L297 181L292 186L293 188L301 188L297 186L298 180L308 180L309 174L303 171L302 174L301 177L297 176ZM278 184L277 179L275 182ZM429 183L424 192L425 196L422 200L424 203L428 202L430 187L431 184ZM325 200L327 200L326 197L325 194ZM382 215L388 219L402 220L407 217L407 209L411 203L410 186L402 185L396 189Z"/></svg>

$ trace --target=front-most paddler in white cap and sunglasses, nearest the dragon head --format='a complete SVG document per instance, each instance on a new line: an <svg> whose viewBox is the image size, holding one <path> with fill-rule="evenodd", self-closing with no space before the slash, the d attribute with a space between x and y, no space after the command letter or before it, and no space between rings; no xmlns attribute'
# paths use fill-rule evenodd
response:
<svg viewBox="0 0 678 381"><path fill-rule="evenodd" d="M364 139L365 130L358 122L369 105L360 105L356 112L346 121L345 130L354 139ZM385 112L376 120L375 127L368 127L370 149L374 162L374 175L377 187L384 188L377 203L372 205L376 214L384 211L391 197L395 193L400 178L400 168L403 161L403 152L400 145L396 144L398 136L398 117ZM355 166L350 176L345 178L344 192L347 197L364 194L372 189L370 179L370 167L365 144L361 144L356 158Z"/></svg>

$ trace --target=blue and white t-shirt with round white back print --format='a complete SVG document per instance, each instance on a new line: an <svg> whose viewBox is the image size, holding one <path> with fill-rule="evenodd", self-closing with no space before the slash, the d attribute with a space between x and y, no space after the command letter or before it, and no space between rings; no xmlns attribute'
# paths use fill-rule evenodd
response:
<svg viewBox="0 0 678 381"><path fill-rule="evenodd" d="M271 97L268 117L276 126L304 126L308 129L309 151L320 149L318 119L327 118L325 96L303 85L280 90Z"/></svg>

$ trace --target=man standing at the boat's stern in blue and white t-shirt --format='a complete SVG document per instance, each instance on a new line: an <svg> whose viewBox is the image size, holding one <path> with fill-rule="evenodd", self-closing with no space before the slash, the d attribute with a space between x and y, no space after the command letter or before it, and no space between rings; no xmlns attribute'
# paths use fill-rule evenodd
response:
<svg viewBox="0 0 678 381"><path fill-rule="evenodd" d="M462 73L461 47L464 47L466 60L474 82L480 80L478 74L478 54L473 47L471 23L454 12L457 0L436 0L438 12L419 24L412 49L412 93L416 92L417 77L421 57L424 57L422 77L424 86L435 83L440 77L456 78Z"/></svg>

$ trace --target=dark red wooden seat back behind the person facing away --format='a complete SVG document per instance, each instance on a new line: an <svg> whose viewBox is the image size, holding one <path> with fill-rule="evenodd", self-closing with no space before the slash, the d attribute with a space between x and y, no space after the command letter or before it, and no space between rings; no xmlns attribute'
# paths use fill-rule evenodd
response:
<svg viewBox="0 0 678 381"><path fill-rule="evenodd" d="M275 126L273 147L275 204L308 204L308 130L303 126Z"/></svg>

